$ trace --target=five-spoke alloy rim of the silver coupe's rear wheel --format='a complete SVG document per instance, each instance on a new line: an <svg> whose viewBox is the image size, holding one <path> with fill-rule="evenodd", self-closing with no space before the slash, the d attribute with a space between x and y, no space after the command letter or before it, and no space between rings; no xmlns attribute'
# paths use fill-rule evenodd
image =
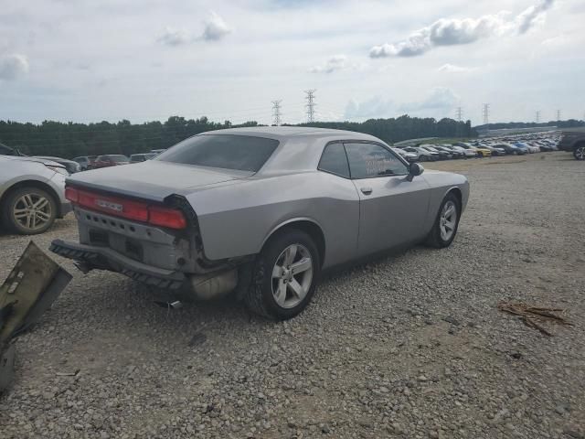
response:
<svg viewBox="0 0 585 439"><path fill-rule="evenodd" d="M272 295L282 308L299 305L313 282L313 259L302 244L282 251L272 268Z"/></svg>

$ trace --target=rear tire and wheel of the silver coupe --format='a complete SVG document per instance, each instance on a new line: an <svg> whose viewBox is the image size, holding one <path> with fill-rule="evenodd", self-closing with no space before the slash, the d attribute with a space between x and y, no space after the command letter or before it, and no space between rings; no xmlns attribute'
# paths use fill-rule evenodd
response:
<svg viewBox="0 0 585 439"><path fill-rule="evenodd" d="M302 230L277 232L256 258L244 299L250 311L273 320L297 316L311 301L321 272L319 251Z"/></svg>

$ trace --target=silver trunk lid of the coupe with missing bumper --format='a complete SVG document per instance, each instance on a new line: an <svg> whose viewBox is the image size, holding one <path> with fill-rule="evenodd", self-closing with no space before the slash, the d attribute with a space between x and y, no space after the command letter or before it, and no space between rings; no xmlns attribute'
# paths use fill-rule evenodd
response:
<svg viewBox="0 0 585 439"><path fill-rule="evenodd" d="M67 184L162 202L170 195L187 195L252 175L252 172L148 160L132 166L110 166L75 174L67 179Z"/></svg>

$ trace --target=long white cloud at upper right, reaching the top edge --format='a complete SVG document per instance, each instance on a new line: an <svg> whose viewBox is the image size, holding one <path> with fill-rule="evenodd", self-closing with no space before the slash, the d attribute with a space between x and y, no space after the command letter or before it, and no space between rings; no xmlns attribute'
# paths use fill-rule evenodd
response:
<svg viewBox="0 0 585 439"><path fill-rule="evenodd" d="M546 12L553 5L553 1L542 0L538 5L527 7L516 17L502 11L479 18L441 18L402 41L374 46L370 49L369 56L370 58L414 57L437 46L470 44L478 39L514 32L524 34L531 27L544 21Z"/></svg>

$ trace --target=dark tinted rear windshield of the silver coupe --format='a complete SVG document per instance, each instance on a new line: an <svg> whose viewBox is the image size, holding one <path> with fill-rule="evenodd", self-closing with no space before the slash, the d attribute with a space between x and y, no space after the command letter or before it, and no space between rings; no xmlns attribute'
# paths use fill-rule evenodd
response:
<svg viewBox="0 0 585 439"><path fill-rule="evenodd" d="M279 142L263 137L205 134L188 138L154 160L258 172Z"/></svg>

